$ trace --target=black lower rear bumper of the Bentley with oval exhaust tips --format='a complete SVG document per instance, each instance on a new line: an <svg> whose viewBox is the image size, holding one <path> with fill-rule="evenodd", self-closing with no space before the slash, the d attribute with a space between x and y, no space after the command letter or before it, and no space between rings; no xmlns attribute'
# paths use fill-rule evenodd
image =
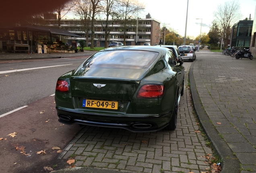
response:
<svg viewBox="0 0 256 173"><path fill-rule="evenodd" d="M164 115L96 115L56 107L59 122L97 127L122 128L132 132L153 132L165 128L171 113Z"/></svg>

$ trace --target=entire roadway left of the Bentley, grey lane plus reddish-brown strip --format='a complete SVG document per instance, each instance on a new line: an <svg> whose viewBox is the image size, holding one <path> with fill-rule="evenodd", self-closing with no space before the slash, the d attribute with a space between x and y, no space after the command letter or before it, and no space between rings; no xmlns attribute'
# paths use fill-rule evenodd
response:
<svg viewBox="0 0 256 173"><path fill-rule="evenodd" d="M63 149L81 130L79 125L58 123L54 96L50 95L55 92L58 77L76 68L84 60L85 57L14 60L0 64L0 138L3 138L0 141L1 172L45 172L42 164L47 166L50 161L52 164L57 151ZM54 67L40 68L47 66ZM35 69L3 72L27 68ZM23 106L27 107L5 115ZM8 136L14 132L16 136ZM53 150L52 147L60 149ZM37 154L39 151L45 154Z"/></svg>

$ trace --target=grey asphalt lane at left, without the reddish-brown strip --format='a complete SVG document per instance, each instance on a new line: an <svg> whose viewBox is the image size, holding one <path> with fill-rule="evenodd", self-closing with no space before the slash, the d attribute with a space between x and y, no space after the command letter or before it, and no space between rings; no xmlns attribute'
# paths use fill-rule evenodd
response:
<svg viewBox="0 0 256 173"><path fill-rule="evenodd" d="M1 63L0 73L16 69L35 69L0 74L0 115L54 94L58 77L73 70L84 60L85 57L79 57Z"/></svg>

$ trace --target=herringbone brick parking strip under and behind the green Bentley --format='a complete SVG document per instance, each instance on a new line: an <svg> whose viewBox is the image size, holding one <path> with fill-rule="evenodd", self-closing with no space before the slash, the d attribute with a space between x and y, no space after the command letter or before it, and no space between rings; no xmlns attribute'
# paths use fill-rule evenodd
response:
<svg viewBox="0 0 256 173"><path fill-rule="evenodd" d="M191 62L185 62L185 81ZM59 159L75 155L76 167L138 173L206 172L210 165L206 147L193 115L190 91L181 97L178 126L174 131L132 133L122 129L85 127L64 149ZM61 170L60 170L61 171Z"/></svg>

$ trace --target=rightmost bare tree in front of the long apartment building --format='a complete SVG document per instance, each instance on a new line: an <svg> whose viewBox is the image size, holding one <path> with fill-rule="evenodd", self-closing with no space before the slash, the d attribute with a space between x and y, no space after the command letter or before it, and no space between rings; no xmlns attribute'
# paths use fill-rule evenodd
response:
<svg viewBox="0 0 256 173"><path fill-rule="evenodd" d="M130 23L134 21L134 16L144 9L144 6L138 0L118 0L117 11L122 22L122 31L124 32L124 45L126 45L126 32Z"/></svg>

